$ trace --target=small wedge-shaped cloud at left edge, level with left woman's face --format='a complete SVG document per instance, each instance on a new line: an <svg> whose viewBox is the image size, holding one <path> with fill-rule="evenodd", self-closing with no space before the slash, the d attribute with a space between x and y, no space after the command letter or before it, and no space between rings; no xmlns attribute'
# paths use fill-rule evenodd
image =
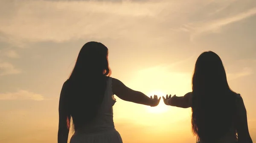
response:
<svg viewBox="0 0 256 143"><path fill-rule="evenodd" d="M12 75L21 73L20 69L17 69L9 62L0 62L0 76Z"/></svg>

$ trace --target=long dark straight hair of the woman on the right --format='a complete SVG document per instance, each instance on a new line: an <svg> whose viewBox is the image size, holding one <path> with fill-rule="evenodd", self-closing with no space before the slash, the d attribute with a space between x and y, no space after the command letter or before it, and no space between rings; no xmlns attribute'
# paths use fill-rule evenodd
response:
<svg viewBox="0 0 256 143"><path fill-rule="evenodd" d="M228 83L221 58L214 52L202 53L192 78L192 131L198 141L215 143L235 120L235 95Z"/></svg>

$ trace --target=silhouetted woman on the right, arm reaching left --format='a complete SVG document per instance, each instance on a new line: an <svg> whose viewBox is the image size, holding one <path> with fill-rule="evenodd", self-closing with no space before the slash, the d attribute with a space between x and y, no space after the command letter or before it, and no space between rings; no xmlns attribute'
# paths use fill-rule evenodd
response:
<svg viewBox="0 0 256 143"><path fill-rule="evenodd" d="M221 59L212 51L202 53L195 63L192 93L166 95L163 100L170 106L192 107L198 143L252 143L243 99L230 89Z"/></svg>

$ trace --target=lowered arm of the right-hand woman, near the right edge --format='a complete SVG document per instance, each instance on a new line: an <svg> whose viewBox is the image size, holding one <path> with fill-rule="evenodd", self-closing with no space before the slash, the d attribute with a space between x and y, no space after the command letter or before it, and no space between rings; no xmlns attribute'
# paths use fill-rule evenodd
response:
<svg viewBox="0 0 256 143"><path fill-rule="evenodd" d="M238 118L236 128L239 143L253 143L248 129L247 113L244 106L244 101L241 97L239 97L238 100Z"/></svg>

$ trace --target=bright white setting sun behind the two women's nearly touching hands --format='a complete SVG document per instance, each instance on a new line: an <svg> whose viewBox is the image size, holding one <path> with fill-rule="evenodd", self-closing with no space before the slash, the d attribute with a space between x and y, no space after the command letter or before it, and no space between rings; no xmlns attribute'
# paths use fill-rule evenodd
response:
<svg viewBox="0 0 256 143"><path fill-rule="evenodd" d="M147 95L149 96L154 96L154 95L157 95L157 97L161 97L161 101L160 103L156 106L156 107L150 107L150 106L146 106L146 110L150 113L163 113L163 112L167 112L168 111L168 106L166 104L163 103L163 97L162 96L165 96L166 94L161 92L161 91L152 91L150 93L148 93Z"/></svg>

